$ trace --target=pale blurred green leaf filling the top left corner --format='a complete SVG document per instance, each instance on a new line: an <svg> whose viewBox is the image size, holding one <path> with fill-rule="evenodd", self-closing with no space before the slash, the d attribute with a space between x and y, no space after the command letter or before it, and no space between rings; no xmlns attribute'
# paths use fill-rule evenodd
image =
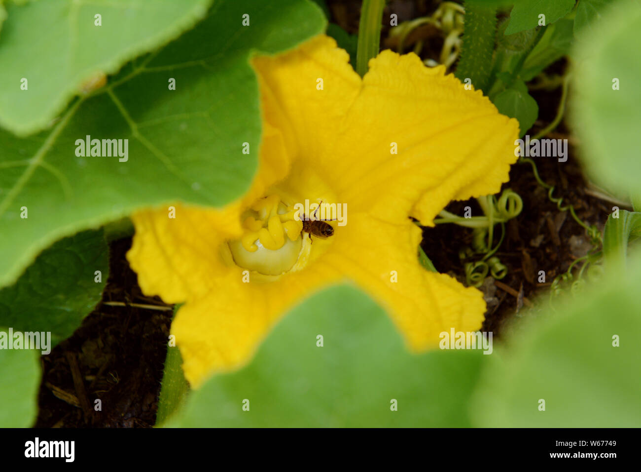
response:
<svg viewBox="0 0 641 472"><path fill-rule="evenodd" d="M96 73L113 74L201 19L211 0L67 0L8 4L0 37L0 125L18 135L47 127ZM94 15L101 15L96 26ZM34 32L38 33L35 34ZM28 89L21 89L21 80Z"/></svg>

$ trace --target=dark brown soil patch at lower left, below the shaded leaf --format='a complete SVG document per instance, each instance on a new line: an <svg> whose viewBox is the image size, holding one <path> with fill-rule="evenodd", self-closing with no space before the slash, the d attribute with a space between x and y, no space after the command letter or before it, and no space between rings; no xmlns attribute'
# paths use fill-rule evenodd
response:
<svg viewBox="0 0 641 472"><path fill-rule="evenodd" d="M173 311L104 304L167 308L160 299L140 292L125 259L130 246L131 238L110 245L103 301L71 338L42 356L37 427L149 428L156 422ZM81 386L74 385L73 371ZM94 411L95 399L102 401L101 412Z"/></svg>

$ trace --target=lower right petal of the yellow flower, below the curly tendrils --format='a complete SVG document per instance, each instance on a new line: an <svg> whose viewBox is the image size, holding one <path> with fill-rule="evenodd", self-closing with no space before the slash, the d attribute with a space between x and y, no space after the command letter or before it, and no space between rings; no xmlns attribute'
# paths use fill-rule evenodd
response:
<svg viewBox="0 0 641 472"><path fill-rule="evenodd" d="M420 240L410 220L397 225L356 214L323 258L385 307L417 351L437 345L442 331L477 331L485 312L476 288L421 267Z"/></svg>

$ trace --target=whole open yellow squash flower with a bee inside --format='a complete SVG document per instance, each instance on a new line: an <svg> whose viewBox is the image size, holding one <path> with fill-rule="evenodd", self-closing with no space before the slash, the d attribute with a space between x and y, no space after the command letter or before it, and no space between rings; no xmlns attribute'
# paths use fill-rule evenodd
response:
<svg viewBox="0 0 641 472"><path fill-rule="evenodd" d="M140 288L184 302L172 334L192 387L246 363L288 309L340 281L378 301L412 351L451 328L478 330L481 292L420 266L410 216L432 226L450 200L497 193L516 159L517 121L413 54L383 51L360 78L324 35L253 67L263 135L251 189L222 209L132 216ZM306 200L306 216L320 218L321 203L324 219L347 209L326 223L331 236L301 231Z"/></svg>

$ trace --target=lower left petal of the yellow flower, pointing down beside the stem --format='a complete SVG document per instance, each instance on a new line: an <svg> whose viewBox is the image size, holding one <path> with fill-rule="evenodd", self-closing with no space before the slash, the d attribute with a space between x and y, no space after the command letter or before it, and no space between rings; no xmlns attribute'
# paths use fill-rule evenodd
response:
<svg viewBox="0 0 641 472"><path fill-rule="evenodd" d="M294 304L323 284L340 279L324 263L278 281L242 282L237 269L215 290L182 306L171 332L183 356L185 378L197 388L210 375L246 363L263 338Z"/></svg>

